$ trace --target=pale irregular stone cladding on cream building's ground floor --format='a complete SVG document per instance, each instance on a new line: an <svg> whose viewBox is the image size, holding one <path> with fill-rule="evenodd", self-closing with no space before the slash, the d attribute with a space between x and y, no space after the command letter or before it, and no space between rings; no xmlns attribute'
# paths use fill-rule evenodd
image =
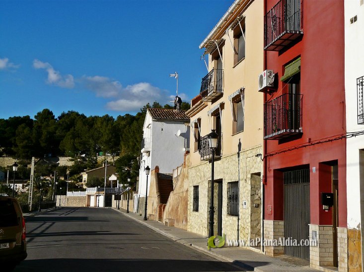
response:
<svg viewBox="0 0 364 272"><path fill-rule="evenodd" d="M215 180L222 182L222 234L226 235L227 239L250 239L257 237L260 232L257 229L261 228L261 212L256 213L256 209L261 211L261 190L257 186L261 186L260 178L259 185L253 182L254 195L251 194L252 174L261 176L263 172L263 162L256 154L262 153L262 146L251 148L240 152L238 160L237 154L222 157L215 162ZM239 162L240 161L240 162ZM239 165L239 166L238 166ZM191 166L188 169L189 187L188 187L188 227L189 231L208 235L209 225L209 180L211 180L211 163L202 162L196 166ZM239 183L239 235L238 218L227 214L227 184L228 182L238 181ZM193 210L193 186L199 186L199 211ZM258 189L258 190L257 190ZM242 206L243 201L246 206ZM259 203L258 203L259 202ZM217 202L214 201L214 206ZM259 207L254 208L252 205L258 204ZM216 206L217 207L217 206ZM217 208L215 209L217 215ZM253 216L253 214L255 214ZM253 219L253 222L251 221ZM217 224L215 220L215 224ZM253 230L251 227L253 226ZM216 227L214 227L216 228Z"/></svg>

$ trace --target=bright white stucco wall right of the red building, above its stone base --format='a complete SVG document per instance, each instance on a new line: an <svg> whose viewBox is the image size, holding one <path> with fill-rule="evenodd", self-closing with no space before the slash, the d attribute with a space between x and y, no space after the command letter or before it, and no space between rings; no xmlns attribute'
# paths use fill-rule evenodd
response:
<svg viewBox="0 0 364 272"><path fill-rule="evenodd" d="M346 120L350 133L364 130L357 118L357 78L364 76L364 4L347 0L344 10ZM358 20L351 23L355 15ZM347 139L348 228L357 229L361 227L360 149L364 149L364 135Z"/></svg>

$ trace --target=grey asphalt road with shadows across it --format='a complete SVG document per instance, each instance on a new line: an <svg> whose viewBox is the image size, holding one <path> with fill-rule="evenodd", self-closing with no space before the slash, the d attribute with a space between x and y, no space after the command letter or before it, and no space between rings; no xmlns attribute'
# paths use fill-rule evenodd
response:
<svg viewBox="0 0 364 272"><path fill-rule="evenodd" d="M112 209L59 208L26 227L28 257L14 271L243 271Z"/></svg>

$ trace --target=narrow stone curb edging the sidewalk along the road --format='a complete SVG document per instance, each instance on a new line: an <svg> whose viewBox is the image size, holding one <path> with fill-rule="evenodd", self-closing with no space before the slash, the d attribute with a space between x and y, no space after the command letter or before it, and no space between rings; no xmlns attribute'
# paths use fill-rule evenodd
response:
<svg viewBox="0 0 364 272"><path fill-rule="evenodd" d="M225 260L225 261L227 261L227 262L229 262L229 263L231 263L231 264L233 264L235 266L238 266L238 267L240 267L242 269L245 269L247 271L254 271L254 268L253 267L251 267L251 266L249 266L247 264L244 264L244 263L242 263L242 262L240 262L238 260L234 260L234 259L227 258L227 257L225 257L223 255L220 255L220 254L218 254L216 252L212 252L210 250L207 250L206 248L203 248L201 246L195 245L195 244L193 244L191 242L186 242L184 239L181 239L181 238L179 238L177 236L174 236L173 234L166 233L166 232L160 230L159 228L153 227L153 226L149 225L148 223L145 223L144 221L138 220L138 219L136 219L136 218L134 218L134 217L126 214L126 213L123 213L120 210L116 210L116 209L114 209L114 210L117 211L117 212L119 212L119 213L121 213L121 214L123 214L123 215L125 215L125 216L127 216L128 218L131 218L131 219L133 219L133 220L135 220L137 222L140 222L141 224L143 224L143 225L151 228L152 230L156 231L157 233L160 233L160 234L162 234L164 236L167 236L168 238L172 238L172 240L174 240L175 242L178 242L178 243L180 243L182 245L185 245L185 246L191 246L191 247L193 247L197 251L200 251L200 252L202 251L203 253L205 253L207 255L210 255L211 257L218 257L219 259Z"/></svg>

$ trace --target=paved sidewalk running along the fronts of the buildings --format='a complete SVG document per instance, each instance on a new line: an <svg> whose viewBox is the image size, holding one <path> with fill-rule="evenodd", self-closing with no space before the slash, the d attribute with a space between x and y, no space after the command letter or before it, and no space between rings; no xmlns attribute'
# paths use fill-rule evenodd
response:
<svg viewBox="0 0 364 272"><path fill-rule="evenodd" d="M283 257L269 257L262 253L255 252L253 250L244 249L241 247L222 247L222 248L211 248L207 249L208 237L192 233L177 227L168 227L161 222L157 221L144 221L143 217L136 215L135 213L127 214L125 210L120 209L114 210L122 213L123 215L132 218L147 227L155 230L156 232L167 236L168 238L184 244L186 246L192 246L199 251L204 251L206 254L218 257L238 265L247 271L256 272L318 272L318 270L309 267L307 261L295 259L290 262L291 259L286 256Z"/></svg>

